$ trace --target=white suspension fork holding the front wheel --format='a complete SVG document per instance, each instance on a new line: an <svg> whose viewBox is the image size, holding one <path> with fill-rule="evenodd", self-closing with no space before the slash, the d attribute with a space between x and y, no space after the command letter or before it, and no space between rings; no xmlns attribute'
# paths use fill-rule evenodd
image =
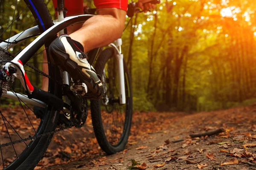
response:
<svg viewBox="0 0 256 170"><path fill-rule="evenodd" d="M118 81L119 81L119 104L125 104L125 73L124 73L124 55L122 54L122 39L117 39L114 43L111 43L109 46L114 48L115 57L117 61L118 68Z"/></svg>

